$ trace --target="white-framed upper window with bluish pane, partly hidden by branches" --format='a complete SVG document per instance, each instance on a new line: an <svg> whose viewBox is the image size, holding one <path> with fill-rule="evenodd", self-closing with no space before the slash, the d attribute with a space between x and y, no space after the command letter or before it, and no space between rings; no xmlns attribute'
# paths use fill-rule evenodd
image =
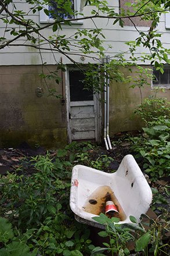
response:
<svg viewBox="0 0 170 256"><path fill-rule="evenodd" d="M65 2L67 3L67 1L68 0L66 0ZM74 9L75 11L79 12L80 3L81 3L81 0L70 0L69 8L71 7L71 9ZM56 16L57 17L59 16L63 19L74 19L74 18L82 17L78 13L75 13L75 15L70 15L70 13L63 12L62 4L60 4L60 6L57 5L57 1L55 0L50 0L49 5L43 5L43 7L49 10L49 15L46 15L46 13L44 12L44 9L42 9L40 11L41 23L53 22L53 20L56 19ZM74 23L82 23L82 20L78 20L78 21L75 20Z"/></svg>

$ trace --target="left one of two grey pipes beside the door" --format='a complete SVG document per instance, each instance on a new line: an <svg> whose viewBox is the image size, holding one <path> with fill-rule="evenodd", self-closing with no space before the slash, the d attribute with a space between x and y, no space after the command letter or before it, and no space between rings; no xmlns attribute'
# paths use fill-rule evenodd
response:
<svg viewBox="0 0 170 256"><path fill-rule="evenodd" d="M103 59L103 63L106 63L106 59ZM106 145L106 150L108 150L108 144L106 139L106 131L107 131L107 91L106 91L106 70L104 67L104 143Z"/></svg>

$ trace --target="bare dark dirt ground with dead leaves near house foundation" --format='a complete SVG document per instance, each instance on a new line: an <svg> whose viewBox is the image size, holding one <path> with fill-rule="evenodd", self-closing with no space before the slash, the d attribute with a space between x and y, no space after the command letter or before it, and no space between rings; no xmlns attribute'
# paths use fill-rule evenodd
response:
<svg viewBox="0 0 170 256"><path fill-rule="evenodd" d="M138 136L139 131L133 131L130 133L131 135ZM122 158L124 158L127 154L132 154L135 157L135 153L131 151L131 143L129 143L128 140L126 140L127 134L125 133L118 133L115 134L114 138L112 138L111 141L116 141L118 143L113 143L113 149L112 150L106 150L106 147L104 143L101 145L98 145L95 147L95 150L92 150L90 152L91 160L96 161L97 158L99 158L101 155L106 155L108 157L113 158L113 161L111 161L110 166L108 168L105 168L104 171L106 172L113 172L113 170L117 170L118 166L120 165ZM97 150L96 150L97 148ZM55 152L57 150L49 151L49 153L53 156L55 155ZM88 152L89 153L89 152ZM30 159L31 157L35 157L36 155L45 155L46 150L43 147L38 148L31 148L27 143L23 143L19 145L17 148L0 148L0 175L5 175L6 172L14 172L15 169L19 166L22 166L24 169L24 173L21 172L24 175L31 175L35 172L35 169L33 166L31 166L30 162L23 161L24 159ZM140 169L143 171L143 159L142 157L136 158L136 162L138 163ZM143 171L144 173L144 171ZM149 183L150 187L154 187L157 189L160 194L164 197L164 186L169 185L169 177L163 177L161 180L157 180L156 182L151 182L149 179L149 176L144 173L144 176L147 179L147 182ZM159 210L160 207L169 208L170 206L170 197L167 198L168 201L167 204L155 204L158 205L158 209L156 210L156 213L159 215L161 214L161 211Z"/></svg>

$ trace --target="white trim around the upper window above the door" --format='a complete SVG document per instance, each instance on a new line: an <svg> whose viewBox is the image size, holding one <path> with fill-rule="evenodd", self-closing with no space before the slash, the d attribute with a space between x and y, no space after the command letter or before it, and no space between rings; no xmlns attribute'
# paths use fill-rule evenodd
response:
<svg viewBox="0 0 170 256"><path fill-rule="evenodd" d="M81 0L74 0L74 9L79 12L81 5ZM43 9L39 11L39 22L40 23L53 23L54 19L49 19L49 17L45 14L44 8L48 9L48 5L43 4ZM81 18L82 15L76 14L76 18ZM83 20L73 20L71 21L73 24L83 24Z"/></svg>

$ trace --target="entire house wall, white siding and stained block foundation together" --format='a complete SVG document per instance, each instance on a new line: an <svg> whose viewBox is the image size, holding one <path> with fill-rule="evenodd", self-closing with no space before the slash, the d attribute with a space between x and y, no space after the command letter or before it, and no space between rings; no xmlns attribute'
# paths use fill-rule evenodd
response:
<svg viewBox="0 0 170 256"><path fill-rule="evenodd" d="M26 1L13 1L19 9L27 11ZM111 7L119 12L118 0L108 1ZM121 1L124 3L125 1ZM92 7L86 6L84 14L87 15ZM39 13L32 15L35 22L39 23ZM127 21L126 21L127 22ZM138 20L138 30L147 31L148 24ZM126 51L128 47L126 41L135 40L139 36L130 23L121 28L118 23L113 26L113 20L95 19L96 26L103 28L106 37L104 47L107 55L114 56L118 52ZM40 24L40 23L39 23ZM42 25L42 24L41 24ZM76 29L94 28L92 20L85 20L82 24L73 24L72 27L63 25L63 30L59 34L73 35ZM3 34L5 24L0 20L0 34ZM165 29L165 15L161 16L160 24L157 27L158 33L162 33L161 41L164 47L169 48L170 33ZM44 35L50 35L52 29L46 29ZM5 34L5 36L8 33ZM10 35L9 35L10 37ZM17 41L24 44L25 38ZM111 48L108 48L111 45ZM136 56L147 52L145 48L139 47ZM71 52L72 54L74 53ZM77 52L78 53L78 52ZM55 56L55 58L54 58ZM0 146L13 146L26 141L30 145L44 145L47 148L61 147L67 144L67 119L66 102L61 104L61 99L47 97L48 89L45 81L39 77L42 73L42 60L47 63L47 69L55 70L56 61L60 61L59 53L53 54L42 50L41 55L38 49L28 46L13 46L1 50L0 58ZM95 56L95 55L94 55ZM91 54L91 57L93 55ZM129 54L125 54L128 58ZM80 63L94 62L96 59L85 57L82 61L81 55L71 55L74 61ZM70 64L70 60L63 56L63 63ZM140 64L140 62L139 62ZM146 62L147 64L147 62ZM45 72L48 70L45 69ZM133 72L131 73L133 75ZM64 77L64 76L63 76ZM57 93L62 94L62 84L59 86L53 80L48 80L50 88L56 88ZM64 81L63 81L64 84ZM42 97L37 97L35 90L41 87L44 90ZM64 88L65 91L65 88ZM63 92L65 93L65 92ZM142 90L143 98L153 93L151 86ZM170 90L159 93L162 97L170 99ZM65 95L64 95L65 98ZM129 84L111 83L110 84L110 135L118 131L128 131L140 129L138 120L131 120L131 115L136 106L140 104L139 89L129 88Z"/></svg>

